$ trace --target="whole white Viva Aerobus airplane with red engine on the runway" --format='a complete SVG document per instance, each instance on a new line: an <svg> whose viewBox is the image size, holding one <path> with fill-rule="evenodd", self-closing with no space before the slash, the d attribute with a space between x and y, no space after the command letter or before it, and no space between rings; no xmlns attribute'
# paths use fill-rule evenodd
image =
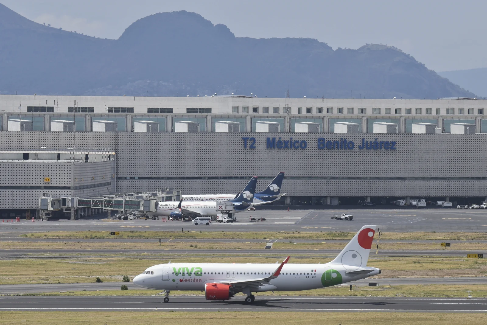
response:
<svg viewBox="0 0 487 325"><path fill-rule="evenodd" d="M133 278L133 283L147 289L164 290L169 302L170 290L205 290L207 300L227 300L238 292L273 290L309 290L356 281L380 273L367 267L376 226L363 226L343 251L325 264L169 263L151 266Z"/></svg>

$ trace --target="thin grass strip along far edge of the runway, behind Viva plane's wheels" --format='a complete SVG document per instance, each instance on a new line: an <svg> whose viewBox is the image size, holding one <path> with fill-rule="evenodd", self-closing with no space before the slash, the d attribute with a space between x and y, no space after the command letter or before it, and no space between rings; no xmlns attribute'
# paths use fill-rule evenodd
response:
<svg viewBox="0 0 487 325"><path fill-rule="evenodd" d="M374 281L374 280L371 280ZM380 283L380 280L377 280ZM350 296L350 297L453 297L467 298L467 291L473 298L487 297L487 285L402 285L390 286L387 283L380 283L379 287L350 287L344 284L343 287L328 287L304 291L268 291L256 292L257 296ZM70 291L70 292L50 292L28 294L36 296L151 296L160 293L161 290L95 290L95 291ZM201 291L171 291L171 296L197 295L201 296ZM237 296L244 297L243 293Z"/></svg>

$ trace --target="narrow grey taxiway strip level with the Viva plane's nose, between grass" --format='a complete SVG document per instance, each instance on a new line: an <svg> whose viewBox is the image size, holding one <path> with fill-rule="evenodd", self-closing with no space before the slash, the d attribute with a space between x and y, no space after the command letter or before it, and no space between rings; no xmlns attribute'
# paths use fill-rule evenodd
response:
<svg viewBox="0 0 487 325"><path fill-rule="evenodd" d="M367 287L369 282L379 283L382 286L400 286L400 285L429 285L429 284L464 284L479 285L487 284L487 276L470 276L470 277L427 277L427 278L367 278L359 281L344 284L348 286L353 284L357 287ZM121 285L126 285L130 290L144 290L137 287L132 282L102 282L102 283L52 283L52 284L28 284L28 285L0 285L0 294L29 294L41 292L59 292L59 291L95 291L95 290L119 290Z"/></svg>

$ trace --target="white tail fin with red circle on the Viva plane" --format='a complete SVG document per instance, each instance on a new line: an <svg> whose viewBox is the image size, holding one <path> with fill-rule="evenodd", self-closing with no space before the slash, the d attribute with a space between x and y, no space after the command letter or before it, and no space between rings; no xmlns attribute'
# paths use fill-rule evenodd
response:
<svg viewBox="0 0 487 325"><path fill-rule="evenodd" d="M363 226L338 256L329 264L343 265L348 271L367 266L377 226Z"/></svg>

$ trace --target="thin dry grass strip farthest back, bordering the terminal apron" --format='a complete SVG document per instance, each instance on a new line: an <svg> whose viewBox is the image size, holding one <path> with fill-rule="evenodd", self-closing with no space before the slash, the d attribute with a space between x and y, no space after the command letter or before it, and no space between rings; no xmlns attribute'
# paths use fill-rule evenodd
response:
<svg viewBox="0 0 487 325"><path fill-rule="evenodd" d="M184 223L182 223L184 227ZM115 226L113 228L116 228ZM205 238L205 239L351 239L355 233L347 232L159 232L159 231L121 231L120 238ZM47 232L21 235L31 238L113 238L110 232ZM376 237L377 238L377 237ZM381 239L393 240L485 240L487 233L464 232L411 232L383 233Z"/></svg>

